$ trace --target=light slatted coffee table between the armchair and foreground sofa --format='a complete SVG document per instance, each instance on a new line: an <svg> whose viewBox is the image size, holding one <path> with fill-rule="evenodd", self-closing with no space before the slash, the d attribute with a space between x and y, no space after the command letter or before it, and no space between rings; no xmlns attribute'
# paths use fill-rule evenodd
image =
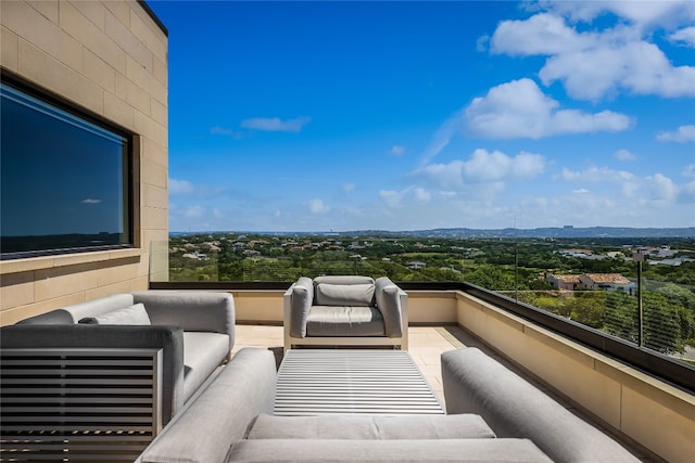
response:
<svg viewBox="0 0 695 463"><path fill-rule="evenodd" d="M295 349L278 371L276 415L443 414L405 350Z"/></svg>

